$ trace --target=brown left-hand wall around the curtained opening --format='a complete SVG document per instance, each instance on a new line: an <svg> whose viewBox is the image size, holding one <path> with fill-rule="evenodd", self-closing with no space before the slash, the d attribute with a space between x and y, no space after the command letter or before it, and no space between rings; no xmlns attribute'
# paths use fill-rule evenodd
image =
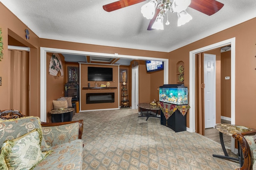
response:
<svg viewBox="0 0 256 170"><path fill-rule="evenodd" d="M16 39L19 44L30 47L30 115L40 116L40 57L39 38L31 30L29 41L25 37L27 26L0 3L0 27L4 44L4 59L0 62L0 109L10 108L10 59L8 58L8 35Z"/></svg>

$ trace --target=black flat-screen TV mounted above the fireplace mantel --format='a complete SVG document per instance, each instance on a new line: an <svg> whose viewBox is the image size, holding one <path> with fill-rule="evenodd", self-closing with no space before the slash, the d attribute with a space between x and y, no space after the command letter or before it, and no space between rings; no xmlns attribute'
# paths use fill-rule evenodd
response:
<svg viewBox="0 0 256 170"><path fill-rule="evenodd" d="M113 81L113 68L88 67L88 81Z"/></svg>

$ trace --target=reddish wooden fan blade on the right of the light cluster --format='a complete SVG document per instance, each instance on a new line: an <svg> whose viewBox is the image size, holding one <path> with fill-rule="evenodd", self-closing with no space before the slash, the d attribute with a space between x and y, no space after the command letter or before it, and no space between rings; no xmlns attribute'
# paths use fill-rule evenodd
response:
<svg viewBox="0 0 256 170"><path fill-rule="evenodd" d="M198 10L208 16L218 12L224 4L216 0L191 0L190 8Z"/></svg>

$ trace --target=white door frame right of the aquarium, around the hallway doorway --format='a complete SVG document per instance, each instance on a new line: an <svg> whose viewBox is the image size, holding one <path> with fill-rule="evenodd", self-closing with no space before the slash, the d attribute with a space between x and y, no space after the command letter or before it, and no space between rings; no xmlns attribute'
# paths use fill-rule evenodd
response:
<svg viewBox="0 0 256 170"><path fill-rule="evenodd" d="M235 46L236 38L226 39L218 43L189 52L189 125L188 131L195 132L195 58L197 53L203 53L225 45L231 45L231 124L235 124Z"/></svg>

